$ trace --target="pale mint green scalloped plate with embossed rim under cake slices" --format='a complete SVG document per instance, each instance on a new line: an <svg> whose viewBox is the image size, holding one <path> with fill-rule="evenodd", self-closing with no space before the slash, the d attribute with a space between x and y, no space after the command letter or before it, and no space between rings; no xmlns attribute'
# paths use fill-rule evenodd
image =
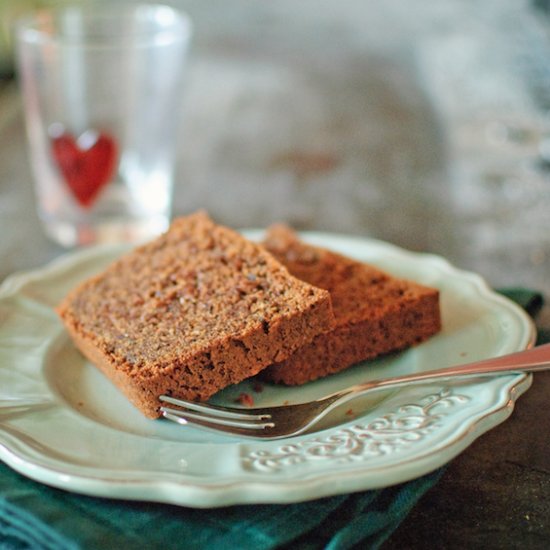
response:
<svg viewBox="0 0 550 550"><path fill-rule="evenodd" d="M534 342L523 310L442 258L367 239L303 237L439 288L443 331L404 353L300 388L258 392L245 382L218 402L232 402L242 391L257 405L307 400L371 377L501 355ZM389 486L447 463L504 421L531 383L530 376L513 375L405 388L377 402L354 402L352 411L340 411L314 433L274 442L148 420L74 349L52 309L122 250L73 253L0 288L0 459L49 485L195 507L295 502Z"/></svg>

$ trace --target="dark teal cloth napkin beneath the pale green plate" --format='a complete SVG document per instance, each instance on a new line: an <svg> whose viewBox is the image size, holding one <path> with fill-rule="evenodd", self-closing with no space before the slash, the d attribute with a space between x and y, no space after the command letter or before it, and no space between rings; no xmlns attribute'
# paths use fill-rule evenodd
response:
<svg viewBox="0 0 550 550"><path fill-rule="evenodd" d="M542 307L539 293L502 292L532 315ZM0 550L379 548L443 472L310 502L200 510L73 494L0 464Z"/></svg>

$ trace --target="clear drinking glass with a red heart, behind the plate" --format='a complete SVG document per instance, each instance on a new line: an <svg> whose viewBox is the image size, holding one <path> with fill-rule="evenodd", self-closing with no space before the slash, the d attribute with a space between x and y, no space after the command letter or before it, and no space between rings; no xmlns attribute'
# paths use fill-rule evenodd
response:
<svg viewBox="0 0 550 550"><path fill-rule="evenodd" d="M16 25L38 212L55 241L167 228L190 27L172 7L116 2Z"/></svg>

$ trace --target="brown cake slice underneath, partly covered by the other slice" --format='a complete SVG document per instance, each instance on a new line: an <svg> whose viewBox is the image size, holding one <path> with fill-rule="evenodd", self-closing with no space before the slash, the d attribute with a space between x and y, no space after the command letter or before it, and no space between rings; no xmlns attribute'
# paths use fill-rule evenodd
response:
<svg viewBox="0 0 550 550"><path fill-rule="evenodd" d="M284 225L271 227L263 244L290 273L328 290L336 317L332 331L264 370L264 379L303 384L418 344L441 329L436 289L306 244Z"/></svg>

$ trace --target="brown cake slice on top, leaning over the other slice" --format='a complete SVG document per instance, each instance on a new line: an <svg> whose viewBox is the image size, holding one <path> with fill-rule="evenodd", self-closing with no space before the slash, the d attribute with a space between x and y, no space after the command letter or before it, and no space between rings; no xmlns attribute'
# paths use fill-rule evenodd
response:
<svg viewBox="0 0 550 550"><path fill-rule="evenodd" d="M57 312L82 353L152 418L161 394L206 400L334 320L327 291L204 213L174 221L70 292Z"/></svg>

